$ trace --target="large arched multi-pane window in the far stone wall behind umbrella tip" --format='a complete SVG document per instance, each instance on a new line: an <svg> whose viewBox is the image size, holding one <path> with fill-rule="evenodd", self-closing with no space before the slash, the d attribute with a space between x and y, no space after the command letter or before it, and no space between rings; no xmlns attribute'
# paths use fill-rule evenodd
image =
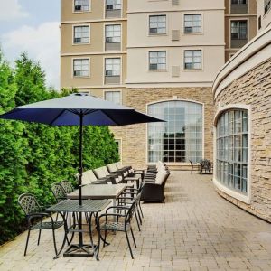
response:
<svg viewBox="0 0 271 271"><path fill-rule="evenodd" d="M189 101L166 101L148 106L148 114L166 120L148 124L148 162L200 162L202 106Z"/></svg>

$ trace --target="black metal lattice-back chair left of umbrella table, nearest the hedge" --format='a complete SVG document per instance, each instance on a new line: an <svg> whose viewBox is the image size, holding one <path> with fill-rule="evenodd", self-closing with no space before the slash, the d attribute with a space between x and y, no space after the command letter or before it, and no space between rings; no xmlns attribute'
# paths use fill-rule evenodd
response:
<svg viewBox="0 0 271 271"><path fill-rule="evenodd" d="M24 249L24 256L26 255L28 241L30 237L31 230L39 230L39 238L38 238L38 246L40 245L40 239L42 234L42 229L51 229L52 230L52 238L53 238L53 245L56 256L58 256L58 250L56 247L56 240L55 240L55 229L61 228L63 226L63 221L54 221L51 217L51 214L48 212L44 212L42 210L42 206L39 205L38 201L35 199L33 194L31 193L23 193L19 196L18 202L22 207L26 219L28 222L28 234L26 238L26 245ZM43 221L43 218L50 218L50 221ZM36 223L34 223L36 222ZM65 239L63 240L62 247L64 246Z"/></svg>

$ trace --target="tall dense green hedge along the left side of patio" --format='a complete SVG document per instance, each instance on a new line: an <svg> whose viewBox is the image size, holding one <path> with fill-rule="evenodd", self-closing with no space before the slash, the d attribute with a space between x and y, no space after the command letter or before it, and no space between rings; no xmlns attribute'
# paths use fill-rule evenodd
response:
<svg viewBox="0 0 271 271"><path fill-rule="evenodd" d="M14 106L69 94L45 88L40 65L23 54L12 70L0 52L0 113ZM107 126L85 126L84 168L118 160L117 145ZM54 202L52 182L74 181L79 163L79 127L51 127L0 120L0 244L25 226L17 198L32 192L42 205Z"/></svg>

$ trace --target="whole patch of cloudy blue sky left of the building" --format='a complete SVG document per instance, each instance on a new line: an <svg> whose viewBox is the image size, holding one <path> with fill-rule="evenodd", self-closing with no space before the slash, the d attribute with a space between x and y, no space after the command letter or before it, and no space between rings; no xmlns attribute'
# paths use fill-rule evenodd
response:
<svg viewBox="0 0 271 271"><path fill-rule="evenodd" d="M26 51L46 72L48 86L60 84L61 0L0 0L0 46L14 63Z"/></svg>

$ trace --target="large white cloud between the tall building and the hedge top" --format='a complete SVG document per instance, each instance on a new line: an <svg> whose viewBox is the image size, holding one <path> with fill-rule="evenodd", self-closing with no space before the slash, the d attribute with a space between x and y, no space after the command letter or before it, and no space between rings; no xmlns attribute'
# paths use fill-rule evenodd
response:
<svg viewBox="0 0 271 271"><path fill-rule="evenodd" d="M22 26L2 35L5 56L14 61L26 51L30 58L39 61L46 73L48 86L60 86L60 28L59 22L42 23L36 27Z"/></svg>

